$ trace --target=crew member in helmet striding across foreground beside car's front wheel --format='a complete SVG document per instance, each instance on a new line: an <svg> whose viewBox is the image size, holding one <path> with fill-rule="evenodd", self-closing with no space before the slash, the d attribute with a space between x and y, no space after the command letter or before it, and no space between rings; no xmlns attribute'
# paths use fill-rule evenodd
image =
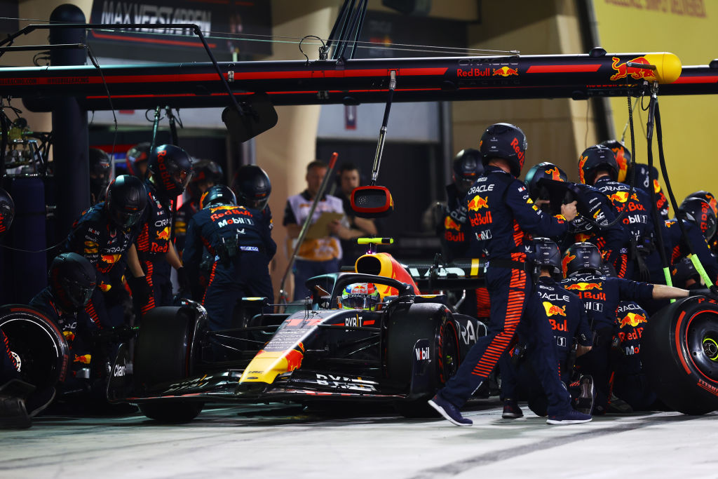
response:
<svg viewBox="0 0 718 479"><path fill-rule="evenodd" d="M485 174L467 194L474 251L486 251L486 281L491 304L487 335L467 353L456 375L429 401L434 409L457 426L470 426L460 407L486 381L501 355L508 350L521 320L536 340L533 365L549 396L549 424L588 422L591 417L571 406L570 396L559 378L558 360L551 327L543 315L531 278L533 246L527 233L561 236L576 216L576 203L561 207L562 218L541 212L528 197L526 186L516 179L526 153L526 136L511 124L494 124L481 136L479 151Z"/></svg>

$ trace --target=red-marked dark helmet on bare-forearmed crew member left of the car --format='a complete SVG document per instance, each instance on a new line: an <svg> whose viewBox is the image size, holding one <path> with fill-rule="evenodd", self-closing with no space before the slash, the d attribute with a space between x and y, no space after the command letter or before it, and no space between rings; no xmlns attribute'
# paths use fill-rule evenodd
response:
<svg viewBox="0 0 718 479"><path fill-rule="evenodd" d="M180 147L163 144L149 155L147 168L152 172L157 191L168 198L182 195L192 180L192 160Z"/></svg>

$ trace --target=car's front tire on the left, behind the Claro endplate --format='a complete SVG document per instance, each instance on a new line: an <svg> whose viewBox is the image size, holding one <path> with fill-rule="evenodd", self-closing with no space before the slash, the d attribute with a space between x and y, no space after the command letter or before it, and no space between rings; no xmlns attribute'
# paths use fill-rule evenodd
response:
<svg viewBox="0 0 718 479"><path fill-rule="evenodd" d="M196 316L190 307L156 307L142 317L135 349L136 391L146 394L158 383L181 381L192 374ZM168 423L192 421L202 406L182 399L139 403L146 417Z"/></svg>

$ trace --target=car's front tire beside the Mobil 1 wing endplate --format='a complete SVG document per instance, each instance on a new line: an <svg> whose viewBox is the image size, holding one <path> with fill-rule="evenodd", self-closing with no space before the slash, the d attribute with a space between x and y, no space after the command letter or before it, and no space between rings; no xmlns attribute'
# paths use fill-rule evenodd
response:
<svg viewBox="0 0 718 479"><path fill-rule="evenodd" d="M426 401L456 373L460 363L457 325L443 304L411 304L388 321L386 373L409 391L396 401L405 417L434 417Z"/></svg>

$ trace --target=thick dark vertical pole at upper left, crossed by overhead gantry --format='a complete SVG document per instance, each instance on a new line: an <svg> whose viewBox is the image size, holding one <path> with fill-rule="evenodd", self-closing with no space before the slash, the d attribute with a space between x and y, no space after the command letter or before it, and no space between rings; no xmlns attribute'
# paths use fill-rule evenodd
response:
<svg viewBox="0 0 718 479"><path fill-rule="evenodd" d="M85 23L78 6L62 4L50 22ZM84 28L50 29L50 44L86 43ZM50 64L85 65L85 50L51 50ZM73 221L90 205L88 116L74 97L55 100L52 108L52 157L55 163L57 237L67 236Z"/></svg>

